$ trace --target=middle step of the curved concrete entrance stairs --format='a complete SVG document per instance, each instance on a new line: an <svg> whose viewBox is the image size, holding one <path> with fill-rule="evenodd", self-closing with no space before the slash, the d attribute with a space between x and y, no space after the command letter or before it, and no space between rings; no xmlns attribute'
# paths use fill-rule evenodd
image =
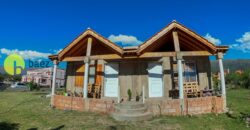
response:
<svg viewBox="0 0 250 130"><path fill-rule="evenodd" d="M147 112L147 107L139 107L139 108L124 108L120 106L115 106L115 112L121 114L142 114Z"/></svg>

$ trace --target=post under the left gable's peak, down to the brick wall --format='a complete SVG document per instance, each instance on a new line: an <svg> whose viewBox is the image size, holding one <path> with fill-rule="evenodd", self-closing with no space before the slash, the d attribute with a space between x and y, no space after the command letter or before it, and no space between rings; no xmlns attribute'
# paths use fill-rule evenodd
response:
<svg viewBox="0 0 250 130"><path fill-rule="evenodd" d="M92 46L92 38L88 38L87 43L87 52L86 52L86 59L84 60L85 63L85 70L84 70L84 86L83 86L83 97L88 97L88 79L89 79L89 56L91 54L91 46Z"/></svg>

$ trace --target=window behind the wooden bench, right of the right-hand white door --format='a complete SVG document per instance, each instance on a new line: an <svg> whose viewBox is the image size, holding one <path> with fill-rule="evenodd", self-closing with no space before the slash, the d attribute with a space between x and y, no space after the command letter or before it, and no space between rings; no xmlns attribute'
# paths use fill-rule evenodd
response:
<svg viewBox="0 0 250 130"><path fill-rule="evenodd" d="M197 82L197 71L194 62L185 62L184 75L185 82Z"/></svg>

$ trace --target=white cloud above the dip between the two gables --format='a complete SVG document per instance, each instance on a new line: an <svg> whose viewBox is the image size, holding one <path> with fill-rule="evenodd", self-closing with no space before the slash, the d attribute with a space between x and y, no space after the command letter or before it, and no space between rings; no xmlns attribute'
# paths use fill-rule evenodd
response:
<svg viewBox="0 0 250 130"><path fill-rule="evenodd" d="M142 41L138 40L135 36L123 35L119 34L117 36L110 35L108 39L115 43L121 43L123 46L137 46L142 43Z"/></svg>

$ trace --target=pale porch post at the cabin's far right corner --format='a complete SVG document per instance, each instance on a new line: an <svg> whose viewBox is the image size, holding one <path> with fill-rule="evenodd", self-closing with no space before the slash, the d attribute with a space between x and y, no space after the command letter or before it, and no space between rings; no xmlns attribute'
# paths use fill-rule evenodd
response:
<svg viewBox="0 0 250 130"><path fill-rule="evenodd" d="M224 75L224 68L223 68L223 53L219 52L217 54L217 59L219 61L219 68L220 68L220 86L221 86L221 94L223 98L223 110L224 112L227 110L227 103L226 103L226 85L225 85L225 75Z"/></svg>

